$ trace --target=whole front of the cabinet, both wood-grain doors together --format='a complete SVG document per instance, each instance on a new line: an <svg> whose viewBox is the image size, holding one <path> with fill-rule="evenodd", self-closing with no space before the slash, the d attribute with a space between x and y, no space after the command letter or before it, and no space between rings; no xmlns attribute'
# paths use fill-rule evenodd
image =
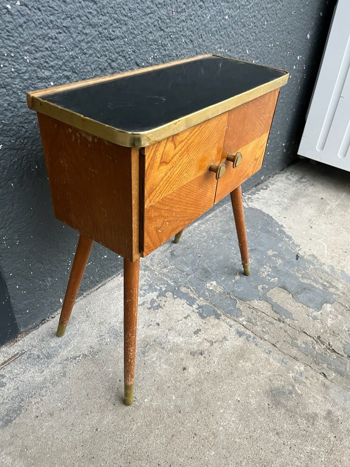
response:
<svg viewBox="0 0 350 467"><path fill-rule="evenodd" d="M140 254L169 240L262 166L279 90L140 149ZM242 152L233 168L227 154ZM224 163L216 180L211 164Z"/></svg>

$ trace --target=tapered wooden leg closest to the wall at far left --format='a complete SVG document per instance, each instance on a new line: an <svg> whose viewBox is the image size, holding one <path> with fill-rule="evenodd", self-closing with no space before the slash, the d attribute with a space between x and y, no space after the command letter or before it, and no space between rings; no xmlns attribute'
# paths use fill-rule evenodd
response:
<svg viewBox="0 0 350 467"><path fill-rule="evenodd" d="M66 330L92 245L93 240L91 238L80 235L56 332L58 337L62 337Z"/></svg>

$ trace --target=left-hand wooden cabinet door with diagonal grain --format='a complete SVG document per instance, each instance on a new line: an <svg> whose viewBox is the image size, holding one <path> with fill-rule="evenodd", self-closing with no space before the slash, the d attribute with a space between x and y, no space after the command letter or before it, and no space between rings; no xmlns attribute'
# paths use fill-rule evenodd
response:
<svg viewBox="0 0 350 467"><path fill-rule="evenodd" d="M144 149L143 256L213 206L216 178L209 167L220 162L227 116L228 112L218 115Z"/></svg>

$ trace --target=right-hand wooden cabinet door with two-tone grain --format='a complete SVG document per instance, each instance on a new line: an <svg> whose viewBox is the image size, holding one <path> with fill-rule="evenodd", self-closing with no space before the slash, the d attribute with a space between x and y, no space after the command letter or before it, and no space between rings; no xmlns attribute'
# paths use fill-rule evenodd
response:
<svg viewBox="0 0 350 467"><path fill-rule="evenodd" d="M221 157L226 172L218 180L215 203L261 168L278 95L279 89L270 91L228 112ZM237 152L242 154L242 162L233 168L227 154Z"/></svg>

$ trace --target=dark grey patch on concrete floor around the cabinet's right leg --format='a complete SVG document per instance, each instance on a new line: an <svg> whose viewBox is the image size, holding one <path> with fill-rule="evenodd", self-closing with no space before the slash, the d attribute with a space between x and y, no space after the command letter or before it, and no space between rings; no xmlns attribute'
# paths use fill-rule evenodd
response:
<svg viewBox="0 0 350 467"><path fill-rule="evenodd" d="M213 216L207 216L195 229L185 231L180 244L169 242L148 260L151 267L162 271L163 277L171 276L174 284L183 285L182 290L187 291L181 294L177 289L178 296L182 295L188 303L188 295L207 302L195 308L201 317L220 317L208 307L210 304L239 317L236 298L243 302L263 300L282 319L296 320L290 309L269 295L276 287L315 310L313 319L317 319L324 304L336 302L339 275L335 271L332 274L316 259L303 257L299 246L273 217L252 207L245 208L251 275L244 276L230 205L226 202L215 215L225 221L212 222ZM350 282L345 273L342 279Z"/></svg>

